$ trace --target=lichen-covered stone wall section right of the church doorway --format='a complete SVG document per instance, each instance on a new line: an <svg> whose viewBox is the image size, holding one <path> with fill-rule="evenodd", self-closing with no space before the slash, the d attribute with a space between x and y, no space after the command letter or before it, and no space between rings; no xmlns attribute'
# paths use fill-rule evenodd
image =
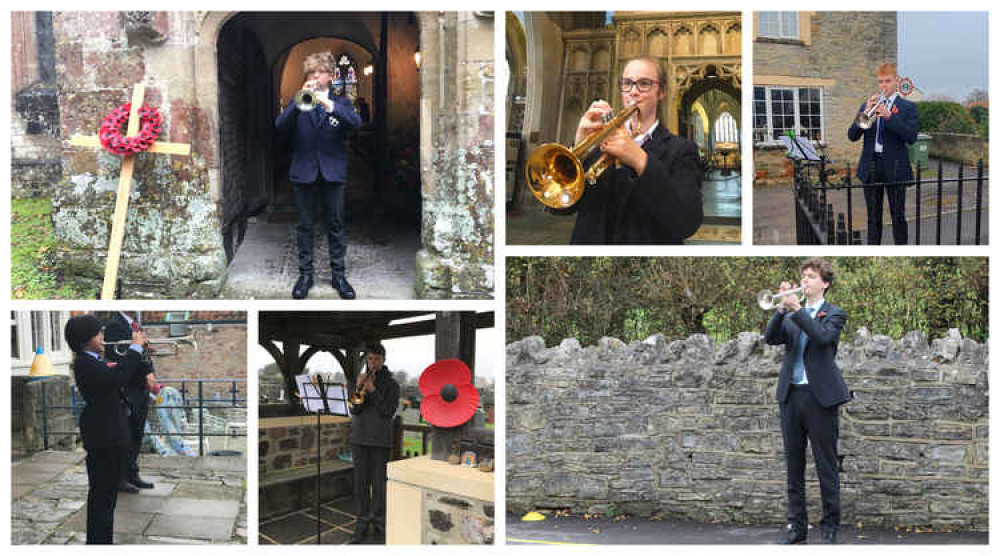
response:
<svg viewBox="0 0 1000 556"><path fill-rule="evenodd" d="M493 295L493 17L421 12L419 297Z"/></svg>

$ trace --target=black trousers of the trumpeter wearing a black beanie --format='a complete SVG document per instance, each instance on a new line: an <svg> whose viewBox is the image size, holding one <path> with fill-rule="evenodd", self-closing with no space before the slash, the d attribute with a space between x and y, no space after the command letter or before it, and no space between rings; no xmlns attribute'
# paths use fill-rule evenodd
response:
<svg viewBox="0 0 1000 556"><path fill-rule="evenodd" d="M112 544L126 446L87 451L87 544Z"/></svg>

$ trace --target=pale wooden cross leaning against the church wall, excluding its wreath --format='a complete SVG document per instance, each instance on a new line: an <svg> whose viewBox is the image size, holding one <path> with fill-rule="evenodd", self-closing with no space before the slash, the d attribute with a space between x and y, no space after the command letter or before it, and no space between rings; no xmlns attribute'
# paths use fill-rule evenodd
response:
<svg viewBox="0 0 1000 556"><path fill-rule="evenodd" d="M128 131L126 136L139 133L139 109L146 95L144 85L136 85L132 90L132 108L128 115ZM69 144L74 147L101 147L99 137L84 137L74 135ZM145 152L188 156L191 145L184 143L161 143L155 141ZM125 217L128 215L128 198L132 190L132 170L135 168L135 155L122 157L122 171L118 178L118 196L115 198L115 216L111 224L111 242L108 244L108 260L104 266L104 286L101 288L101 299L114 299L115 283L118 281L118 262L122 254L122 242L125 240Z"/></svg>

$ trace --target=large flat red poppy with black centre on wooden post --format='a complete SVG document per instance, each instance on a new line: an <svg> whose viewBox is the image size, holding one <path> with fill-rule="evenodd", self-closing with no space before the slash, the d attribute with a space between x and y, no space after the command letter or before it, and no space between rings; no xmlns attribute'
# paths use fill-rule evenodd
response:
<svg viewBox="0 0 1000 556"><path fill-rule="evenodd" d="M420 375L424 401L420 414L438 427L457 427L479 407L479 391L472 385L472 371L458 359L431 363Z"/></svg>

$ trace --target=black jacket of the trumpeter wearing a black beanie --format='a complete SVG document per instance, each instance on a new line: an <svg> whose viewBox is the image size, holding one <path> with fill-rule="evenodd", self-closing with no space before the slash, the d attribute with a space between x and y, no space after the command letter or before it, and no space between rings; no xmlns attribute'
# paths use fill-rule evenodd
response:
<svg viewBox="0 0 1000 556"><path fill-rule="evenodd" d="M112 366L85 353L73 359L76 387L86 402L80 415L80 436L85 450L131 443L128 409L121 398L121 389L142 368L141 356L132 350Z"/></svg>

